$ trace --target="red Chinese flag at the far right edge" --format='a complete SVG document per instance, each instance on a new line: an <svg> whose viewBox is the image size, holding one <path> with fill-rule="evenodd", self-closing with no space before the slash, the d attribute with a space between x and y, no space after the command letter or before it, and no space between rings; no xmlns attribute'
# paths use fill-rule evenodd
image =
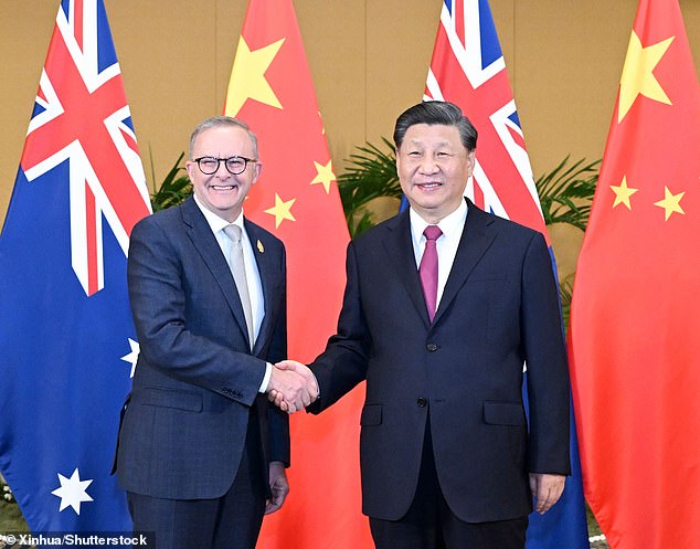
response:
<svg viewBox="0 0 700 549"><path fill-rule="evenodd" d="M700 88L640 0L571 309L584 490L613 549L700 543Z"/></svg>

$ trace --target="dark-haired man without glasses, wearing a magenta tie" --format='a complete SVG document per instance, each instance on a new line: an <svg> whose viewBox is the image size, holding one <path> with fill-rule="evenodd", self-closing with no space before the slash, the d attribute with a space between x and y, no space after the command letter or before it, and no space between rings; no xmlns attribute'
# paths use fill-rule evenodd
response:
<svg viewBox="0 0 700 549"><path fill-rule="evenodd" d="M532 498L547 511L570 473L549 251L539 232L464 198L476 140L449 103L399 117L411 208L349 245L338 334L310 366L315 413L367 380L362 502L380 549L522 549Z"/></svg>

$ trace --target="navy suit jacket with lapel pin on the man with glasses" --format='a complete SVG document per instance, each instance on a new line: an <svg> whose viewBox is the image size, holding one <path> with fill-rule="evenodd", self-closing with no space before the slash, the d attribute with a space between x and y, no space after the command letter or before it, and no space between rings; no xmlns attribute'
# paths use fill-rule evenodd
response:
<svg viewBox="0 0 700 549"><path fill-rule="evenodd" d="M160 498L222 496L255 414L261 456L289 462L286 414L258 394L265 362L286 358L285 250L245 221L265 318L253 352L229 265L189 199L139 222L128 285L140 355L117 451L121 486Z"/></svg>

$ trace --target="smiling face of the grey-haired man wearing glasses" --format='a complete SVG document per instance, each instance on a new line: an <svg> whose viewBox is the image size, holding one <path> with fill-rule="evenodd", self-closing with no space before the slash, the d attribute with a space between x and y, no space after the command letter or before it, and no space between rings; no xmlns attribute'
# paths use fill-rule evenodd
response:
<svg viewBox="0 0 700 549"><path fill-rule="evenodd" d="M248 133L238 126L213 126L203 130L192 144L192 158L231 158L240 156L256 159L255 145ZM243 200L257 180L262 165L248 162L245 170L232 175L224 162L211 176L202 173L193 160L185 163L194 194L200 202L222 219L234 221L243 210Z"/></svg>

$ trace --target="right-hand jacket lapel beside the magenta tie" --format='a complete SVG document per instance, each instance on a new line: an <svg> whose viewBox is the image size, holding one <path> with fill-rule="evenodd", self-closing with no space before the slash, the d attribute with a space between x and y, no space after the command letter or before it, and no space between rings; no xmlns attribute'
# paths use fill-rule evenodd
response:
<svg viewBox="0 0 700 549"><path fill-rule="evenodd" d="M482 210L479 210L469 200L467 200L467 204L469 209L467 221L462 232L455 262L445 283L445 291L443 292L439 306L435 312L433 324L437 323L443 312L449 307L449 304L457 296L459 288L462 288L474 267L479 263L481 257L484 257L484 254L496 237L496 233L489 229L489 225L494 222L491 217Z"/></svg>

